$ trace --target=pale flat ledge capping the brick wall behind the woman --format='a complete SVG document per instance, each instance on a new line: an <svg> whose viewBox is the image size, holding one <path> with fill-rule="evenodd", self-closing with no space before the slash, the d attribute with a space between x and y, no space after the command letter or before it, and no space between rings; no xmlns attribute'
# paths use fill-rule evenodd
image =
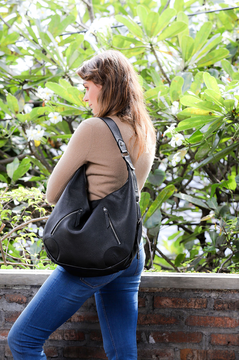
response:
<svg viewBox="0 0 239 360"><path fill-rule="evenodd" d="M42 285L53 270L0 269L0 285ZM141 288L239 289L239 274L142 273Z"/></svg>

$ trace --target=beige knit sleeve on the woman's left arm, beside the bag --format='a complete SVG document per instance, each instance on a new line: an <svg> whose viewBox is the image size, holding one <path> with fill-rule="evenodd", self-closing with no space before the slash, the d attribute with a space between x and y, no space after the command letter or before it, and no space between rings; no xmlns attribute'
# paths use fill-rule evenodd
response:
<svg viewBox="0 0 239 360"><path fill-rule="evenodd" d="M56 205L71 176L80 166L87 163L92 142L92 125L82 121L72 134L65 152L47 181L46 199L48 203Z"/></svg>

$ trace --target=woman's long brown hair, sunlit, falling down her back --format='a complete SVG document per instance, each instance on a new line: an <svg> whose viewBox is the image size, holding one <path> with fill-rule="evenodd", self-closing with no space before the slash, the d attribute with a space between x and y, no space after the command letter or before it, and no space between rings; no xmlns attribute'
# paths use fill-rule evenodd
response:
<svg viewBox="0 0 239 360"><path fill-rule="evenodd" d="M157 130L147 111L138 74L128 58L118 50L102 50L91 59L85 60L75 72L83 80L102 85L97 97L98 112L94 117L116 115L122 122L130 123L136 140L139 140L137 159L145 149L151 153L147 132L150 132L151 145L154 145ZM155 154L154 158L158 159Z"/></svg>

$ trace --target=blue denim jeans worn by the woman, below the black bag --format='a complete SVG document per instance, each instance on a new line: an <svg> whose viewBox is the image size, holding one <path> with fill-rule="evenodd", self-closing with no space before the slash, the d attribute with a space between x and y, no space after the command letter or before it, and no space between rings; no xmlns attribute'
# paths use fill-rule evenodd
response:
<svg viewBox="0 0 239 360"><path fill-rule="evenodd" d="M138 291L144 269L143 238L137 256L126 270L83 278L57 266L25 307L8 334L14 360L46 360L42 346L95 294L95 302L109 360L136 360Z"/></svg>

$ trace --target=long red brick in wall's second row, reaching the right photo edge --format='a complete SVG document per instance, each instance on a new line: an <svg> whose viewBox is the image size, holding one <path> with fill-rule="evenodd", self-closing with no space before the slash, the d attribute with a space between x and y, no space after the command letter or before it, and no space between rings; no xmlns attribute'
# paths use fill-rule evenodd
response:
<svg viewBox="0 0 239 360"><path fill-rule="evenodd" d="M186 325L208 326L210 328L236 328L239 319L229 318L228 316L198 316L191 315L185 321Z"/></svg>

